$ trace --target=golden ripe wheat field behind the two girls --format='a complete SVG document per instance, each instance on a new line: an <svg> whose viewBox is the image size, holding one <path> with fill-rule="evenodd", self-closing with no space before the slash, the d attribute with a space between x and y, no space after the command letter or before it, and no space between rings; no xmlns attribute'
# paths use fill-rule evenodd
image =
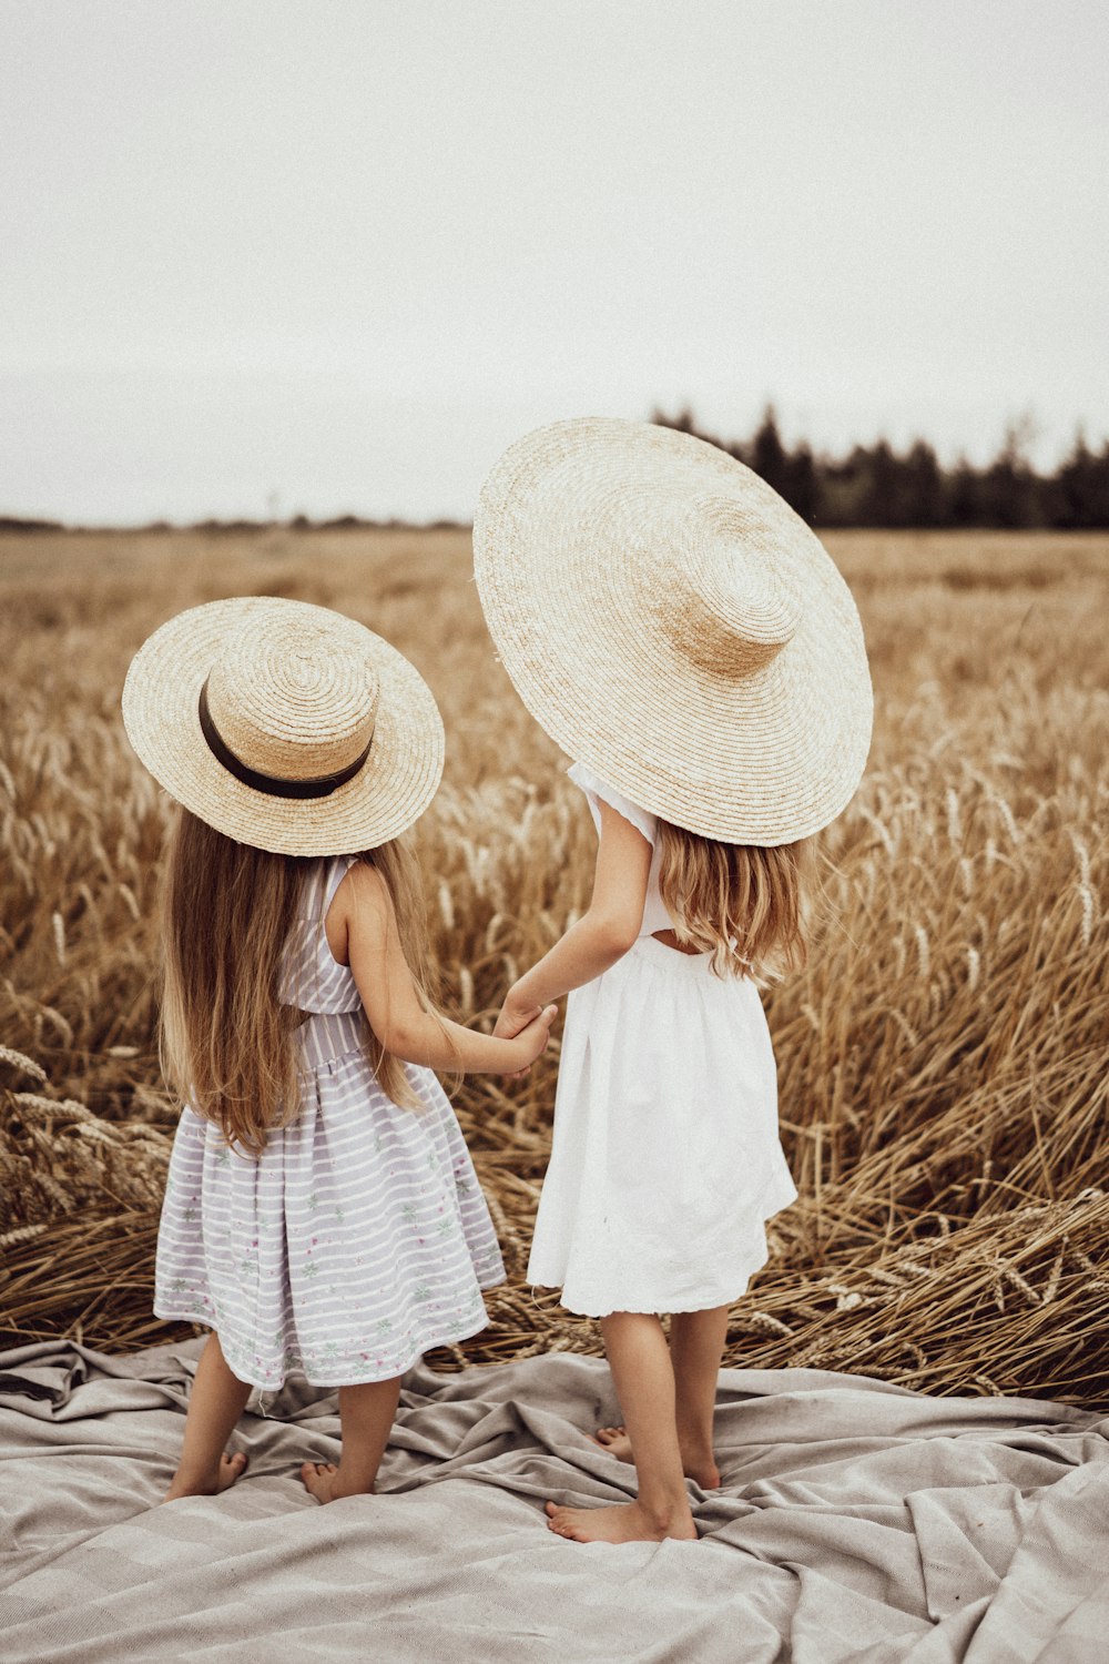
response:
<svg viewBox="0 0 1109 1664"><path fill-rule="evenodd" d="M800 1201L728 1361L1109 1408L1109 537L838 532L876 730L826 837L836 922L768 997ZM176 1107L155 1057L166 802L118 717L130 656L228 594L361 617L431 682L417 829L446 1003L489 1023L587 902L594 835L495 662L459 531L0 536L0 1336L125 1350L150 1311ZM557 1045L457 1110L509 1283L444 1368L599 1351L524 1283Z"/></svg>

